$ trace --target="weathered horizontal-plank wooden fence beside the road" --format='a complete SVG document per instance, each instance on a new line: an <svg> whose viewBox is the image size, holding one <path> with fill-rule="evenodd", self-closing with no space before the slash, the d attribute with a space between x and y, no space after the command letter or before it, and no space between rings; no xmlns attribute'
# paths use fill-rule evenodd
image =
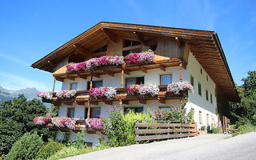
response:
<svg viewBox="0 0 256 160"><path fill-rule="evenodd" d="M135 134L135 141L187 138L197 136L198 129L194 122L137 120L135 123Z"/></svg>

